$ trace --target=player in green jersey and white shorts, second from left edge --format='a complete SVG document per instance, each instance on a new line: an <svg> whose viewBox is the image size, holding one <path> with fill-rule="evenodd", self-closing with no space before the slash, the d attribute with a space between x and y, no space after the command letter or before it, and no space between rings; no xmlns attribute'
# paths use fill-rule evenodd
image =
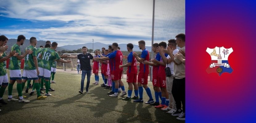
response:
<svg viewBox="0 0 256 123"><path fill-rule="evenodd" d="M32 54L32 50L26 50L23 55L21 55L20 48L19 46L23 45L25 42L26 37L24 35L19 35L17 39L17 43L14 44L11 47L11 51L16 51L18 53L17 56L12 56L10 58L9 62L9 69L10 69L10 83L8 86L8 101L18 101L17 99L14 99L12 97L12 88L17 81L17 90L18 90L18 97L19 97L19 102L26 103L29 102L28 100L24 99L26 96L22 96L22 78L21 78L21 70L20 70L20 60L24 58L27 54Z"/></svg>

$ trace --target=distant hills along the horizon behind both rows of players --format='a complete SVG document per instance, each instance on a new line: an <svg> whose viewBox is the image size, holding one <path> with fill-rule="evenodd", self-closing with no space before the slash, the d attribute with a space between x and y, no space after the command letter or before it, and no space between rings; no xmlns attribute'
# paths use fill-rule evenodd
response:
<svg viewBox="0 0 256 123"><path fill-rule="evenodd" d="M37 41L37 44L36 44L36 48L39 48L41 45L42 46L45 46L45 42L46 41L42 41L42 40L39 40ZM11 47L17 43L17 39L9 39L8 42L7 42L7 45L8 45L8 49L6 51L6 53L9 53L10 52L10 49ZM21 49L21 52L24 52L25 48L27 46L29 46L30 43L29 43L29 40L26 39L24 44L22 46L20 46L20 49ZM67 50L67 51L72 51L72 50L77 50L77 49L80 49L82 48L83 46L86 46L88 49L100 49L102 47L105 47L106 49L108 49L108 46L109 45L112 45L112 44L103 44L103 43L100 43L100 42L95 42L95 43L85 43L85 44L78 44L78 45L66 45L66 46L60 46L60 47L57 47L57 51L61 51L61 50ZM118 44L118 46L121 48L121 51L126 51L127 50L127 46L126 44ZM148 49L150 52L151 52L151 46L146 46L146 49ZM138 45L134 45L134 48L133 48L134 51L141 51L138 47Z"/></svg>

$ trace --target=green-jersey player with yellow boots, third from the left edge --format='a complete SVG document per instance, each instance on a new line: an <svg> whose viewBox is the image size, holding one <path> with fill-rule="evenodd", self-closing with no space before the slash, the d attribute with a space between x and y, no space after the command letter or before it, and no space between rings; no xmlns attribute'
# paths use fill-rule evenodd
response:
<svg viewBox="0 0 256 123"><path fill-rule="evenodd" d="M39 69L37 64L36 48L35 48L37 40L35 37L31 37L29 41L30 41L30 46L27 46L26 50L32 50L33 53L27 54L27 56L25 57L24 69L22 74L22 79L23 79L22 87L24 88L27 80L34 80L35 81L34 86L37 92L37 99L43 99L43 98L46 98L46 96L42 96L40 94L40 85L38 81Z"/></svg>

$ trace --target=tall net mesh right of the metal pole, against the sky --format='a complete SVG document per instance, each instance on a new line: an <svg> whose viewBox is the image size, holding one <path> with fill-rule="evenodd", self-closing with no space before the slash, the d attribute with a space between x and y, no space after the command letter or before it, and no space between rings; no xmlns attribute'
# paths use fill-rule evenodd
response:
<svg viewBox="0 0 256 123"><path fill-rule="evenodd" d="M155 0L153 42L167 42L185 34L185 0Z"/></svg>

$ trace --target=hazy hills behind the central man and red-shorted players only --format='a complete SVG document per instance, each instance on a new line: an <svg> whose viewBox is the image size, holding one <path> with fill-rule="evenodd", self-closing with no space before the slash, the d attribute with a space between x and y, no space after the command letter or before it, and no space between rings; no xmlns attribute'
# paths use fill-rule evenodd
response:
<svg viewBox="0 0 256 123"><path fill-rule="evenodd" d="M86 46L88 49L93 49L93 50L100 49L101 50L102 47L105 47L106 49L108 49L109 45L112 45L112 44L103 44L103 43L100 43L100 42L95 42L95 43L86 43L86 44L78 44L78 45L60 46L60 48L68 49L68 50L77 50L77 49L82 48L83 46ZM127 50L126 45L127 44L118 44L121 51L126 51ZM139 49L138 45L133 44L133 46L134 46L133 51L141 51ZM151 46L146 46L146 49L148 49L151 52Z"/></svg>

